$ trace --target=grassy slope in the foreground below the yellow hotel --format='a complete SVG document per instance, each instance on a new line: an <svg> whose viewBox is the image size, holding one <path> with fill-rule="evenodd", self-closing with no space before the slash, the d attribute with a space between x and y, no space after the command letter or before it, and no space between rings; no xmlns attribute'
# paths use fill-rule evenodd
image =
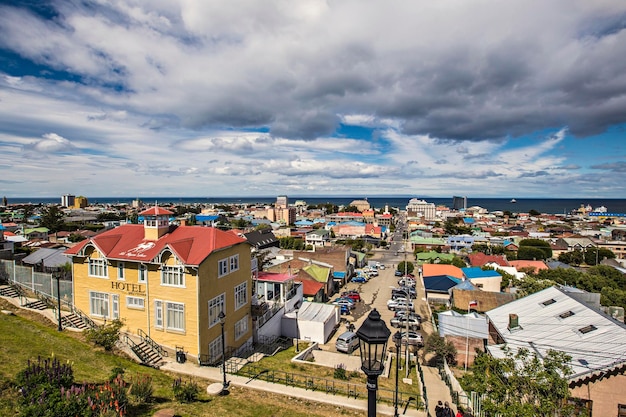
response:
<svg viewBox="0 0 626 417"><path fill-rule="evenodd" d="M152 416L157 410L173 409L178 416L249 416L249 417L304 417L304 416L357 416L361 412L340 406L319 404L277 394L231 387L230 395L208 396L204 388L213 381L194 379L200 387L198 401L181 404L172 399L172 382L177 375L146 368L122 356L107 353L87 344L81 333L69 330L58 332L56 326L38 313L16 308L0 299L1 310L14 311L16 315L0 314L0 416L17 416L18 392L15 376L26 367L27 361L38 357L55 356L72 364L74 379L78 382L102 383L116 367L125 370L128 381L138 374L153 378L155 399L151 404L135 404L130 417ZM183 380L189 380L183 377Z"/></svg>

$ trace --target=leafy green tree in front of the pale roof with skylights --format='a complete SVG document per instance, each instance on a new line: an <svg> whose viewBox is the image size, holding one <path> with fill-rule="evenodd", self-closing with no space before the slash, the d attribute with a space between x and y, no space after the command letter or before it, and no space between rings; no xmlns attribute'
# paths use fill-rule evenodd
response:
<svg viewBox="0 0 626 417"><path fill-rule="evenodd" d="M466 391L484 394L481 410L502 417L574 416L567 378L572 374L571 357L549 350L543 358L520 348L505 348L504 358L480 353L472 372L461 378Z"/></svg>

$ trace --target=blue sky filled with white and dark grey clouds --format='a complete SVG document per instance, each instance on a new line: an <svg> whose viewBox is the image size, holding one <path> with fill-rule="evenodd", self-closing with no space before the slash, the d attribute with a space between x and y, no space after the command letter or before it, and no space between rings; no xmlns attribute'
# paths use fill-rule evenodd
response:
<svg viewBox="0 0 626 417"><path fill-rule="evenodd" d="M626 198L623 0L0 0L0 193Z"/></svg>

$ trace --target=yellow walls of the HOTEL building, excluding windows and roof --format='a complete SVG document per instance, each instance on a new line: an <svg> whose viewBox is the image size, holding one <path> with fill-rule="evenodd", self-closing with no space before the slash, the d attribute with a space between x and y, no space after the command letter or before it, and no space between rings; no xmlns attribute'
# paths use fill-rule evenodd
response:
<svg viewBox="0 0 626 417"><path fill-rule="evenodd" d="M99 258L97 250L87 250L88 257ZM217 278L218 260L239 255L239 270ZM124 280L119 280L116 260L109 260L108 278L90 277L88 275L88 257L74 257L74 305L83 313L96 321L102 321L98 315L90 312L90 291L98 291L109 295L119 295L119 317L124 322L124 331L137 334L141 329L155 342L164 347L174 349L177 346L191 355L208 354L209 343L221 335L221 326L208 326L208 301L216 295L225 293L226 304L226 346L239 347L252 335L250 314L250 298L252 280L250 276L250 248L247 243L236 245L212 253L199 268L185 267L184 288L161 285L160 264L148 265L147 283L139 283L139 263L124 262ZM169 252L164 252L161 262L166 265L177 265L177 259ZM199 272L199 278L198 278ZM235 311L235 287L248 282L248 303ZM129 308L128 295L144 298L144 308ZM110 297L109 297L110 299ZM155 326L154 301L171 301L185 305L185 331L176 331ZM111 301L109 301L111 309ZM235 340L235 323L248 315L248 333ZM109 320L111 317L108 318ZM163 320L166 320L166 308L163 304Z"/></svg>

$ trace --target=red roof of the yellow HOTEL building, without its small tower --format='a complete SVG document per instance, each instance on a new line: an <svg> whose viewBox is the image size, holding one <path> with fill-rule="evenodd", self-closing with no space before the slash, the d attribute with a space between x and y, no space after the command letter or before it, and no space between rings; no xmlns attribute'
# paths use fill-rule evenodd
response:
<svg viewBox="0 0 626 417"><path fill-rule="evenodd" d="M65 253L77 255L92 243L107 258L151 262L169 248L184 264L200 265L213 251L245 241L232 233L200 226L178 226L155 241L145 239L143 225L126 224L84 240Z"/></svg>

